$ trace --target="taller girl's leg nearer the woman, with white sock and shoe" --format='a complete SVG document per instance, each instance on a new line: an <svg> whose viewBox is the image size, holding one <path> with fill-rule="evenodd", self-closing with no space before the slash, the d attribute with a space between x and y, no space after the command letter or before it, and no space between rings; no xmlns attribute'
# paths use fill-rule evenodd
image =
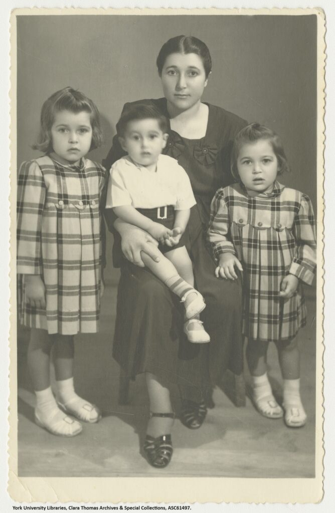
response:
<svg viewBox="0 0 335 513"><path fill-rule="evenodd" d="M57 385L57 399L62 409L84 422L98 422L99 408L82 399L75 392L73 384L73 359L75 347L72 335L53 335L54 368Z"/></svg>

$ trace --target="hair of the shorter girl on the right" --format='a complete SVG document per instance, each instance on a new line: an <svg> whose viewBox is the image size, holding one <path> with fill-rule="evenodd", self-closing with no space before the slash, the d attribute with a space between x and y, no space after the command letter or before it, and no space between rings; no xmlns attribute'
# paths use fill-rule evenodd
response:
<svg viewBox="0 0 335 513"><path fill-rule="evenodd" d="M242 128L235 136L231 152L231 172L237 182L240 177L237 171L237 159L241 147L244 144L255 143L256 141L266 140L272 146L273 152L278 161L278 174L289 172L290 168L284 152L284 147L280 136L270 130L270 128L259 123L250 123Z"/></svg>

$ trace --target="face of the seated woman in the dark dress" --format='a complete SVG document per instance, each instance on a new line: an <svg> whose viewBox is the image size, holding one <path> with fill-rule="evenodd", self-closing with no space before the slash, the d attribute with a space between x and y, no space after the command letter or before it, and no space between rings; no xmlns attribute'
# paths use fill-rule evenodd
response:
<svg viewBox="0 0 335 513"><path fill-rule="evenodd" d="M188 110L200 101L208 78L196 53L171 53L161 75L164 96L178 110Z"/></svg>

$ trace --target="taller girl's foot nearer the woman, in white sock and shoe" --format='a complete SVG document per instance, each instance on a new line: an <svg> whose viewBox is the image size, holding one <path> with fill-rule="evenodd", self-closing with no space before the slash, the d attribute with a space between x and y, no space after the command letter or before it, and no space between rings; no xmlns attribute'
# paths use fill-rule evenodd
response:
<svg viewBox="0 0 335 513"><path fill-rule="evenodd" d="M75 392L73 377L67 380L56 381L57 399L65 406L70 415L74 415L85 422L97 422L101 418L100 410Z"/></svg>

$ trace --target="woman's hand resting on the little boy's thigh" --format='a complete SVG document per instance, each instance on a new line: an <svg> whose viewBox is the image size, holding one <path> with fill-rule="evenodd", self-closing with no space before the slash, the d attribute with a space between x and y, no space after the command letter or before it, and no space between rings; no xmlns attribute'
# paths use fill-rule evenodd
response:
<svg viewBox="0 0 335 513"><path fill-rule="evenodd" d="M130 224L123 224L121 232L121 249L125 258L132 264L144 267L141 251L149 255L154 262L159 262L158 242L146 231Z"/></svg>

